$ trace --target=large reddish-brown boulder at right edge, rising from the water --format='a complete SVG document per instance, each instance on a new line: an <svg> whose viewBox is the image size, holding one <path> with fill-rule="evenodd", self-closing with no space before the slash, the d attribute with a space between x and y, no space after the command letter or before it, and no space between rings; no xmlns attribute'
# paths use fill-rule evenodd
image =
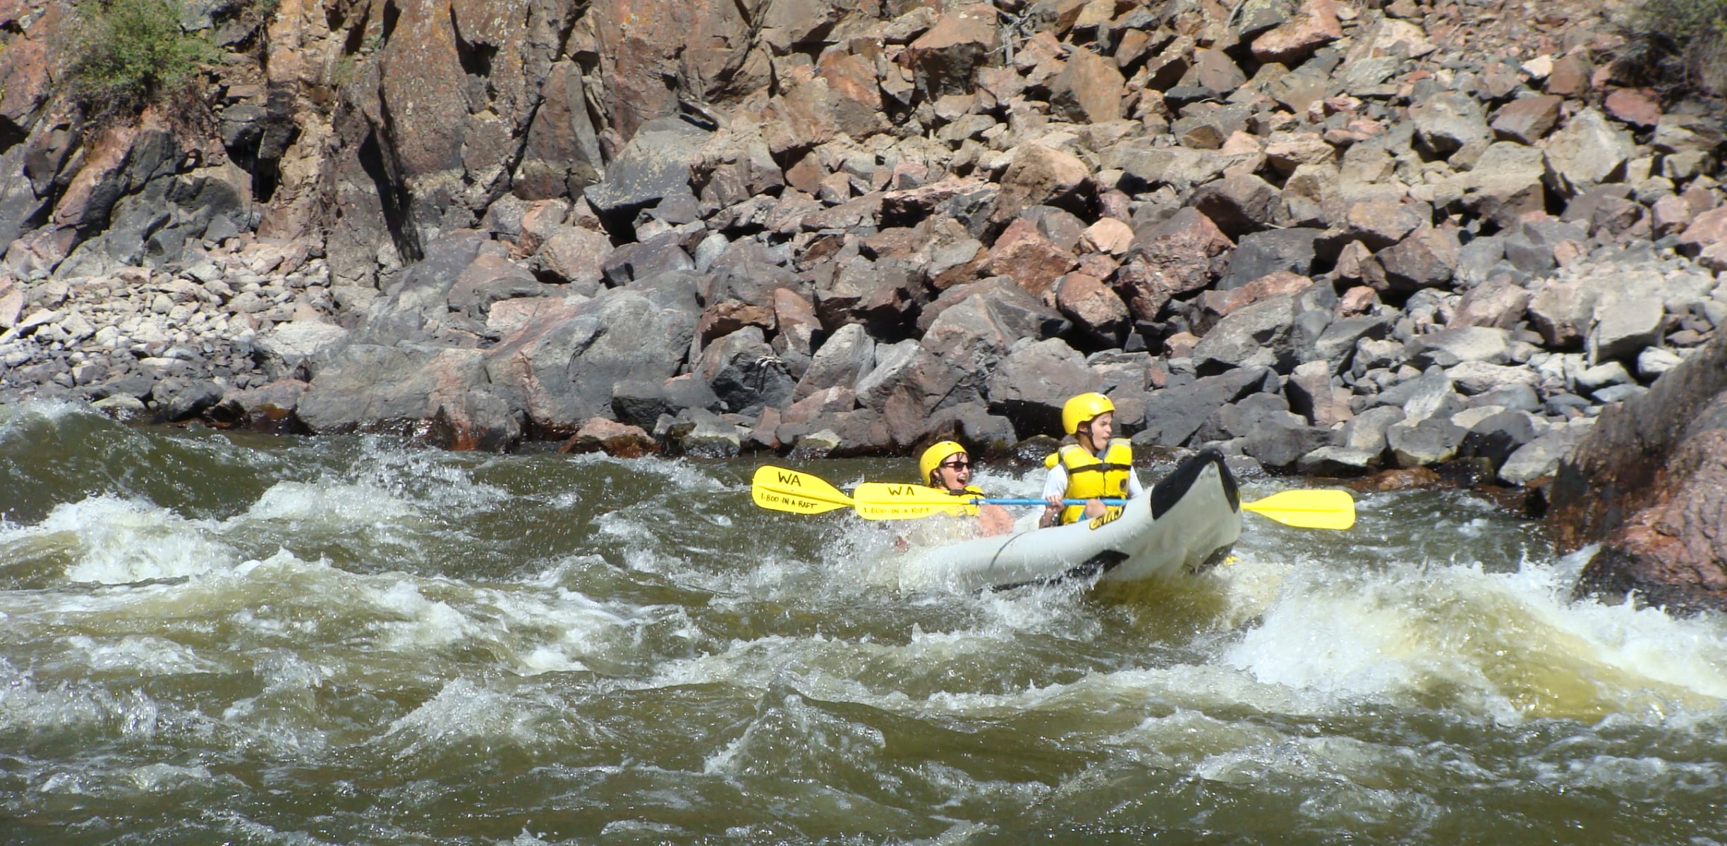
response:
<svg viewBox="0 0 1727 846"><path fill-rule="evenodd" d="M1559 552L1599 542L1580 594L1727 609L1727 333L1601 414L1559 464L1547 523Z"/></svg>

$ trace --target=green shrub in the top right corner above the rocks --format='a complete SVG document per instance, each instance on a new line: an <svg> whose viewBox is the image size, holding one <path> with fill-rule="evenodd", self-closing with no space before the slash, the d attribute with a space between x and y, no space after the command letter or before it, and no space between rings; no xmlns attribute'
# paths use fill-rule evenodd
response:
<svg viewBox="0 0 1727 846"><path fill-rule="evenodd" d="M1649 81L1727 93L1727 0L1642 0L1620 31L1622 60Z"/></svg>

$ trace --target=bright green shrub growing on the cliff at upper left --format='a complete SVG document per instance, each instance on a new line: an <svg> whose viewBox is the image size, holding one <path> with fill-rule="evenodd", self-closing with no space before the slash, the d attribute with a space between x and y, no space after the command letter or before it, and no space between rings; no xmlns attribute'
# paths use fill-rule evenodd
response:
<svg viewBox="0 0 1727 846"><path fill-rule="evenodd" d="M73 93L93 112L136 112L180 93L216 57L180 28L181 0L86 0L71 66Z"/></svg>

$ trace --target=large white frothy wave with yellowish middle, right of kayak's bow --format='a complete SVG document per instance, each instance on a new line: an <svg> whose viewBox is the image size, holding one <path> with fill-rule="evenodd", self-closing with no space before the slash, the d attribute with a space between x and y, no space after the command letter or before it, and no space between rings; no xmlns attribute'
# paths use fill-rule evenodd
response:
<svg viewBox="0 0 1727 846"><path fill-rule="evenodd" d="M1727 699L1720 618L1572 603L1568 566L1340 566L1292 568L1221 661L1325 708L1440 696L1497 720L1660 718Z"/></svg>

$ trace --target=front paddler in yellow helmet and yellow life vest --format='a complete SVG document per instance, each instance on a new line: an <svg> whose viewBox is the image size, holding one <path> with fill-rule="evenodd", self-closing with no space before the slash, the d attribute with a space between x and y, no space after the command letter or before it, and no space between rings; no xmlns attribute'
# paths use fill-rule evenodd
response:
<svg viewBox="0 0 1727 846"><path fill-rule="evenodd" d="M1074 437L1043 464L1043 518L1038 527L1078 523L1104 516L1104 499L1136 497L1145 492L1133 473L1133 447L1116 432L1116 404L1102 394L1079 394L1062 406L1062 428ZM1085 499L1064 506L1062 499Z"/></svg>

